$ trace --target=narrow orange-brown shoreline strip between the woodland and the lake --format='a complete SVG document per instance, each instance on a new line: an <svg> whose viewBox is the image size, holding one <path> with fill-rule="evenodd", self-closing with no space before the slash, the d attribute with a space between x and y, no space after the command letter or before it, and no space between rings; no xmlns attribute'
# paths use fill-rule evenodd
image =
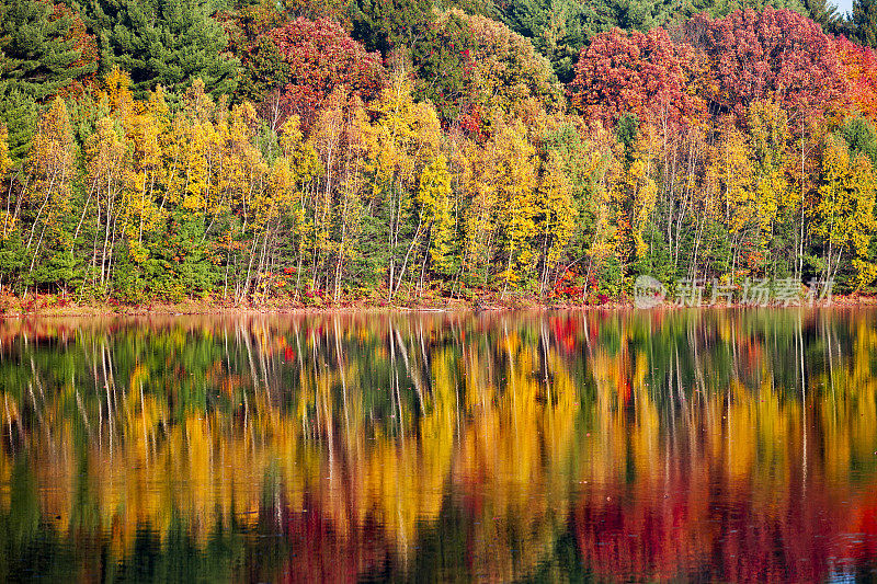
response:
<svg viewBox="0 0 877 584"><path fill-rule="evenodd" d="M43 300L42 302L38 300ZM671 312L677 310L738 310L738 309L819 309L819 308L867 308L877 307L877 296L850 295L834 297L829 305L801 306L770 304L753 307L739 302L715 304L699 307L679 307L672 302L663 302L650 308L637 308L629 300L614 300L603 304L580 302L545 302L536 298L511 298L500 300L497 298L477 298L468 300L446 300L442 302L412 302L410 305L388 305L369 301L341 301L321 306L307 306L300 302L269 301L262 305L242 304L238 306L210 302L205 300L184 300L182 302L155 302L149 305L121 305L117 302L59 302L56 297L38 297L37 301L26 305L19 298L5 297L4 306L0 307L0 320L26 319L43 317L185 317L185 316L244 316L244 314L328 314L328 313L387 313L387 312L420 312L420 313L463 313L463 312L500 312L500 311L658 311ZM11 306L10 306L11 305Z"/></svg>

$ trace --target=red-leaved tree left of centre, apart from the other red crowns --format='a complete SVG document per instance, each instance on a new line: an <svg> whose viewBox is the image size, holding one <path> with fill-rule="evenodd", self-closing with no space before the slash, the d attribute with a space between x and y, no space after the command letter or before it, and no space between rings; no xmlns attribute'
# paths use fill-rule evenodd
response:
<svg viewBox="0 0 877 584"><path fill-rule="evenodd" d="M380 55L368 53L332 20L299 18L269 31L262 41L276 47L284 65L277 105L284 116L298 115L303 128L335 87L346 85L368 101L384 83Z"/></svg>

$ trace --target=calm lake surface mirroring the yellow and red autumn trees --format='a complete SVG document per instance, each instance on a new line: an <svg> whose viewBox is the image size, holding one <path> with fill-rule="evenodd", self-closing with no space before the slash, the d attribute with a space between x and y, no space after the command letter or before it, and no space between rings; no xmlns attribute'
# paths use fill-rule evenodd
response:
<svg viewBox="0 0 877 584"><path fill-rule="evenodd" d="M0 321L0 581L839 581L877 312Z"/></svg>

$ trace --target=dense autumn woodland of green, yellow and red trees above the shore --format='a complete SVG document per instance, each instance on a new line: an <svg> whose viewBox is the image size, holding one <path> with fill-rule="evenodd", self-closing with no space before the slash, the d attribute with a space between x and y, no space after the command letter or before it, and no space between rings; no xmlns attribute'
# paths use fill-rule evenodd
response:
<svg viewBox="0 0 877 584"><path fill-rule="evenodd" d="M0 293L873 293L875 45L869 0L0 0Z"/></svg>

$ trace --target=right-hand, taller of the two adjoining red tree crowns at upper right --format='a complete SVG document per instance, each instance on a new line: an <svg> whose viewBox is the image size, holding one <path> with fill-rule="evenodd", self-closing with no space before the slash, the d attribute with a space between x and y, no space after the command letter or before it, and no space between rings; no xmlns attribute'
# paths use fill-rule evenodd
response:
<svg viewBox="0 0 877 584"><path fill-rule="evenodd" d="M823 113L844 95L833 42L816 22L790 10L738 10L722 19L698 14L685 38L703 50L711 79L710 112L745 119L756 100L773 99L793 124Z"/></svg>

